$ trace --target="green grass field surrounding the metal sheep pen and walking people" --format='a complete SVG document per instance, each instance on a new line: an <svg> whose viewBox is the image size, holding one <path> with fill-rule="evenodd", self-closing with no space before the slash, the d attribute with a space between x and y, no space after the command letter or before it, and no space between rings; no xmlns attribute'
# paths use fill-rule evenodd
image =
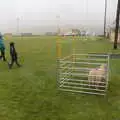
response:
<svg viewBox="0 0 120 120"><path fill-rule="evenodd" d="M85 52L120 52L103 39L77 40ZM24 37L16 43L21 68L8 69L0 62L0 120L120 120L120 60L110 61L108 96L72 94L57 90L56 37ZM9 60L9 42L6 56ZM71 40L61 41L63 56Z"/></svg>

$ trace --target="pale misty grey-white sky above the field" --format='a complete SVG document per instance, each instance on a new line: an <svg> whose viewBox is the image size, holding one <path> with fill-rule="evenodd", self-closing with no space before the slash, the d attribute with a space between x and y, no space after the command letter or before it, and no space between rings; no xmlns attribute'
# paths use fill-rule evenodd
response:
<svg viewBox="0 0 120 120"><path fill-rule="evenodd" d="M103 25L105 0L1 0L0 31L16 31L17 17L20 28L60 25ZM107 23L115 19L117 0L108 0ZM32 31L31 31L32 32Z"/></svg>

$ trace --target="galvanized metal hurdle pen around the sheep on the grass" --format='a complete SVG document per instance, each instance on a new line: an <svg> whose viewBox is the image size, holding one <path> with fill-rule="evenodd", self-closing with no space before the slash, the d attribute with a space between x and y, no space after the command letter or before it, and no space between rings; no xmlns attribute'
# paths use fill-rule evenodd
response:
<svg viewBox="0 0 120 120"><path fill-rule="evenodd" d="M106 95L109 82L109 54L78 54L73 53L65 58L58 59L57 81L62 91ZM107 66L104 81L99 81L99 88L90 85L88 75L91 69L100 65ZM96 76L95 76L96 77Z"/></svg>

